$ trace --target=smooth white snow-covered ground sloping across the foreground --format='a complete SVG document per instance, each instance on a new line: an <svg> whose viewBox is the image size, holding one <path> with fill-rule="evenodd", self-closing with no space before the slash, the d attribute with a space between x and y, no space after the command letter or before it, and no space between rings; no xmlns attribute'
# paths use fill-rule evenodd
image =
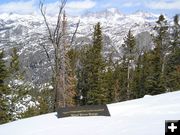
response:
<svg viewBox="0 0 180 135"><path fill-rule="evenodd" d="M180 119L180 91L108 105L111 117L56 113L0 125L1 135L164 135L165 120Z"/></svg>

